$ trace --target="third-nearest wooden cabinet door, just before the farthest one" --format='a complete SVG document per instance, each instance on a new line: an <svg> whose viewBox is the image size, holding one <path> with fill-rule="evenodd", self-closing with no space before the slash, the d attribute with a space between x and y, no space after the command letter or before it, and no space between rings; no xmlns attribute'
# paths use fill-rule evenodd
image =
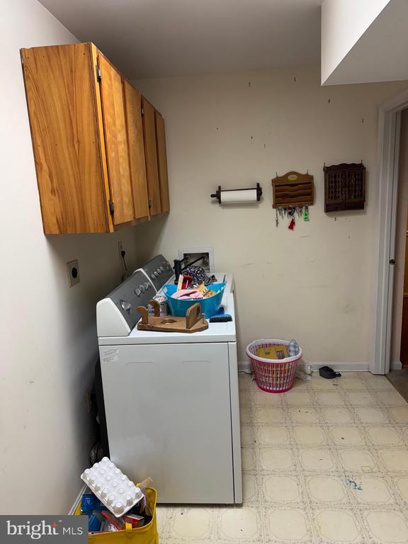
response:
<svg viewBox="0 0 408 544"><path fill-rule="evenodd" d="M159 167L157 164L156 123L154 108L145 98L142 98L143 132L145 135L145 157L147 188L149 191L150 215L162 212L160 203Z"/></svg>

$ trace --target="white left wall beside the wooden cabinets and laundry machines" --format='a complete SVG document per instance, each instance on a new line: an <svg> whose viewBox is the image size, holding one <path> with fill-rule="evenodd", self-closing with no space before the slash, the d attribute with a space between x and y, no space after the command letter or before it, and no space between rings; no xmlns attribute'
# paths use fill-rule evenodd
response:
<svg viewBox="0 0 408 544"><path fill-rule="evenodd" d="M73 42L35 0L0 0L0 513L67 513L88 465L86 412L97 354L95 305L135 263L137 228L45 237L20 47ZM65 263L79 259L69 289Z"/></svg>

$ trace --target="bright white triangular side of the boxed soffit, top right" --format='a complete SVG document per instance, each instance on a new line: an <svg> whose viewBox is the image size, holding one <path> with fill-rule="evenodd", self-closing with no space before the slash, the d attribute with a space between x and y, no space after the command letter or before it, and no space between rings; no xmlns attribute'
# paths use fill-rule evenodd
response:
<svg viewBox="0 0 408 544"><path fill-rule="evenodd" d="M322 4L322 84L390 0L324 0Z"/></svg>

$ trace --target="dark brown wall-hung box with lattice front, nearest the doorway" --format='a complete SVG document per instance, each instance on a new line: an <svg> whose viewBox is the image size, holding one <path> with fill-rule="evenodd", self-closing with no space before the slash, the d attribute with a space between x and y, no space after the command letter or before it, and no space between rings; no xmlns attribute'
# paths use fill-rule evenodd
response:
<svg viewBox="0 0 408 544"><path fill-rule="evenodd" d="M324 211L363 210L365 203L365 166L361 164L324 164Z"/></svg>

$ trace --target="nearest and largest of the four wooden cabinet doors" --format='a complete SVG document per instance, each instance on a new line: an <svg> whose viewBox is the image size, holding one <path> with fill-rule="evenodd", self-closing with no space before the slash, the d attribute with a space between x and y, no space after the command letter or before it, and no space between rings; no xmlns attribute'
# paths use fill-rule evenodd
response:
<svg viewBox="0 0 408 544"><path fill-rule="evenodd" d="M122 77L101 53L98 54L98 67L101 69L103 130L113 222L120 225L134 218Z"/></svg>

